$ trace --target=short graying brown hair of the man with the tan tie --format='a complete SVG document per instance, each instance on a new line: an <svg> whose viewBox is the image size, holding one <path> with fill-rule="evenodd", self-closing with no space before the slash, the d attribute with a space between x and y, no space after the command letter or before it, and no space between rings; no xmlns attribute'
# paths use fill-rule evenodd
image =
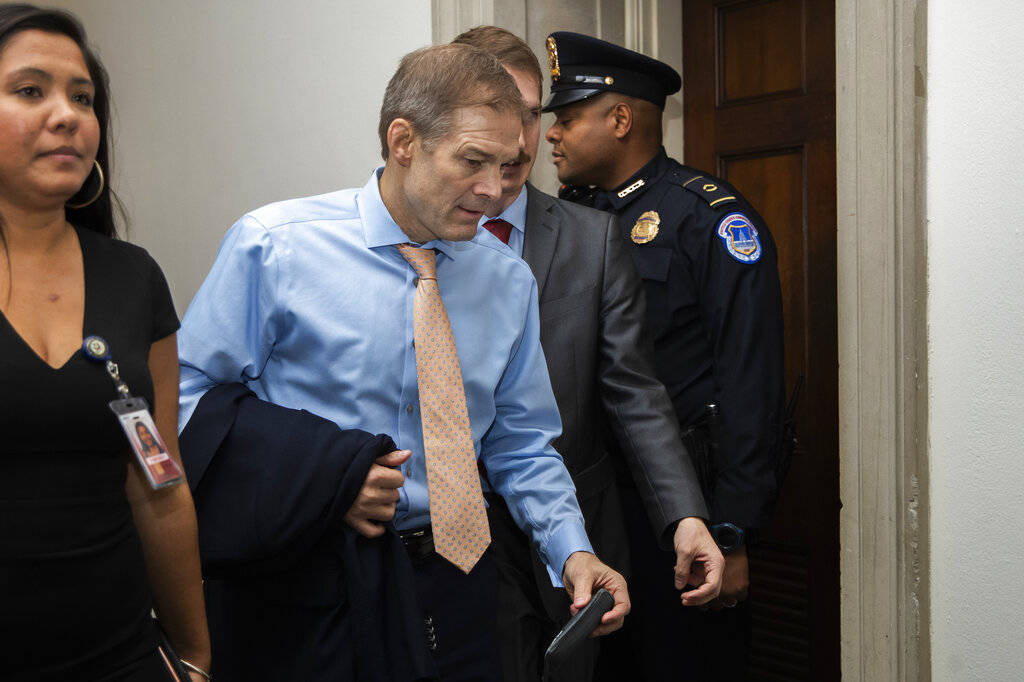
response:
<svg viewBox="0 0 1024 682"><path fill-rule="evenodd" d="M424 141L452 132L455 112L464 106L489 106L520 118L522 95L501 62L470 45L424 47L401 58L384 90L378 134L387 161L387 130L406 119Z"/></svg>

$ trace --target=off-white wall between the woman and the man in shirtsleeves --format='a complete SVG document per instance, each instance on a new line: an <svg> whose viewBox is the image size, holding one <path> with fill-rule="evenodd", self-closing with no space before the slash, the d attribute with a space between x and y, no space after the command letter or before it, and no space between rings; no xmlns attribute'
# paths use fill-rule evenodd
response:
<svg viewBox="0 0 1024 682"><path fill-rule="evenodd" d="M178 314L228 226L272 201L361 185L426 0L63 0L111 74L115 188Z"/></svg>

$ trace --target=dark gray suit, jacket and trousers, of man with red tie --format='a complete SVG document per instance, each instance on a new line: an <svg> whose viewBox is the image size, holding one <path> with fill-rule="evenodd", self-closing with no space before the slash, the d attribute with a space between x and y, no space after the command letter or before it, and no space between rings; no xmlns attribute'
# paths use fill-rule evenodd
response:
<svg viewBox="0 0 1024 682"><path fill-rule="evenodd" d="M528 184L526 191L523 258L537 279L541 345L562 417L555 449L575 482L595 552L629 573L628 532L644 530L626 528L618 472L632 473L667 549L674 521L708 511L672 402L647 360L643 289L617 219ZM545 648L568 620L568 599L551 587L505 505L489 500L503 675L536 681ZM551 679L592 679L595 654L589 646Z"/></svg>

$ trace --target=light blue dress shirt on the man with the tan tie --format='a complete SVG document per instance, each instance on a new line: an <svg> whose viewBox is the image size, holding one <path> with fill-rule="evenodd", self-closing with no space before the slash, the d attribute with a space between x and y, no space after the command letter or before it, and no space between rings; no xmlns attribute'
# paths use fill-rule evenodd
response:
<svg viewBox="0 0 1024 682"><path fill-rule="evenodd" d="M359 189L265 206L239 220L178 332L179 430L212 386L244 382L262 399L411 450L395 525L430 522L413 295L378 174ZM593 551L572 480L551 440L561 421L539 337L537 283L495 239L437 240L476 455L560 585L569 554Z"/></svg>

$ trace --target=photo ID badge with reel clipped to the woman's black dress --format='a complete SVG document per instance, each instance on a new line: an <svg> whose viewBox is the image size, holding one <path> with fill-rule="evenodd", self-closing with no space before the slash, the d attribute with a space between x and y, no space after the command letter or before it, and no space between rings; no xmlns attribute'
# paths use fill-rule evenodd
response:
<svg viewBox="0 0 1024 682"><path fill-rule="evenodd" d="M145 398L133 396L128 390L128 385L121 380L118 365L111 357L110 344L102 337L90 336L82 343L82 349L86 357L103 365L106 374L114 380L121 397L111 400L108 404L121 422L128 444L135 453L135 460L145 473L150 485L157 489L177 485L184 480L181 467L171 457L164 439L160 437Z"/></svg>

